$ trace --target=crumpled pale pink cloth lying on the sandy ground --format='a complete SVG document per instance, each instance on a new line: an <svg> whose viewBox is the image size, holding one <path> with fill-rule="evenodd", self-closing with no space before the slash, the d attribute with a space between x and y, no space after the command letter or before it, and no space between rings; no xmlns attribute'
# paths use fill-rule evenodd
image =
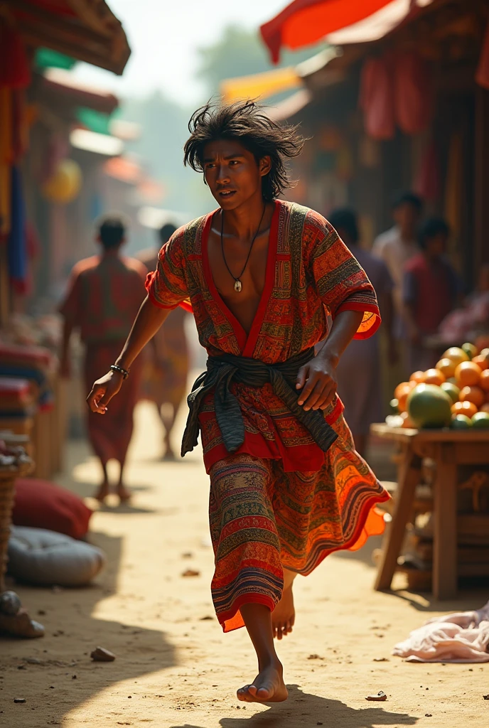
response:
<svg viewBox="0 0 489 728"><path fill-rule="evenodd" d="M407 662L489 662L489 601L474 612L434 617L392 654Z"/></svg>

